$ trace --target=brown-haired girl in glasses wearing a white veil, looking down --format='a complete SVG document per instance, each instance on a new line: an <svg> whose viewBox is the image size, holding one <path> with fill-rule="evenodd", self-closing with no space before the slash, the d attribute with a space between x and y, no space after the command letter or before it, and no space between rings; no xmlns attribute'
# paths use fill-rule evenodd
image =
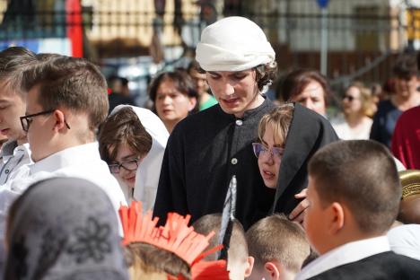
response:
<svg viewBox="0 0 420 280"><path fill-rule="evenodd" d="M169 133L149 109L119 105L101 127L102 159L127 199L141 200L144 209L154 206L163 153Z"/></svg>

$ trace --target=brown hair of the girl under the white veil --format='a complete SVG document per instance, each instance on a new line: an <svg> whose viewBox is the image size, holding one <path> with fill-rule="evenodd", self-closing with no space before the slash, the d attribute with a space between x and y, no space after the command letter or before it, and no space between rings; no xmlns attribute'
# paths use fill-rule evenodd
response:
<svg viewBox="0 0 420 280"><path fill-rule="evenodd" d="M119 144L127 144L133 152L144 156L152 148L153 140L136 112L131 107L125 107L105 120L98 141L102 160L111 163L117 157Z"/></svg>

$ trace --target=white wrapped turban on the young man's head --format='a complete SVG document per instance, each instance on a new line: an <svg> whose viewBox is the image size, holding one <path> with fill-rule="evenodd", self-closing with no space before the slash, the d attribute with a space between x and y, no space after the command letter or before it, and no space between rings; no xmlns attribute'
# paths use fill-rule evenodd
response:
<svg viewBox="0 0 420 280"><path fill-rule="evenodd" d="M276 53L255 22L240 16L206 27L197 44L196 59L206 71L242 71L272 63Z"/></svg>

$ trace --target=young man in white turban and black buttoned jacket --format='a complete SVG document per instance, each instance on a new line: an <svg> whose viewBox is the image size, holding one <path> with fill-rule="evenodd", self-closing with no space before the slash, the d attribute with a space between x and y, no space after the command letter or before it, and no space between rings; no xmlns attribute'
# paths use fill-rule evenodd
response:
<svg viewBox="0 0 420 280"><path fill-rule="evenodd" d="M264 91L275 78L275 51L254 22L228 17L206 27L196 59L218 105L185 118L173 130L162 163L154 215L222 212L232 176L236 218L244 228L269 211L276 189L264 188L251 143L259 119L275 108ZM162 223L161 221L161 223Z"/></svg>

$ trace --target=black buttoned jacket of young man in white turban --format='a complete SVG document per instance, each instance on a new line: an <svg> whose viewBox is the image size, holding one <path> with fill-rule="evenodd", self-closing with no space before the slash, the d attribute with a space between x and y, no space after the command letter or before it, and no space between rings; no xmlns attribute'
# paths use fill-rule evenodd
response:
<svg viewBox="0 0 420 280"><path fill-rule="evenodd" d="M168 212L191 214L192 222L221 213L232 175L238 183L235 216L244 228L255 222L258 207L268 213L274 192L264 186L251 143L259 119L274 108L266 99L235 118L214 105L179 122L166 146L154 206L161 224Z"/></svg>

